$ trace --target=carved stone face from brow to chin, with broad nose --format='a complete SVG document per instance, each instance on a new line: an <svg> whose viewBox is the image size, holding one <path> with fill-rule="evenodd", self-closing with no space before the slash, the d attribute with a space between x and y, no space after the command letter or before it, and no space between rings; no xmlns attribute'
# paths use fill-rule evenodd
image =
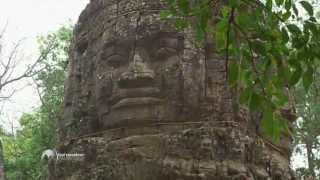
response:
<svg viewBox="0 0 320 180"><path fill-rule="evenodd" d="M184 36L157 32L106 42L96 64L99 119L106 128L189 121L199 110L201 61Z"/></svg>

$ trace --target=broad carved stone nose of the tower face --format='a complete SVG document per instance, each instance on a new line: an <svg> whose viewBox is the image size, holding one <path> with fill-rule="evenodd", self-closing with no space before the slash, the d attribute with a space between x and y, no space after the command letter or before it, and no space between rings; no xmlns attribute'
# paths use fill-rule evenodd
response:
<svg viewBox="0 0 320 180"><path fill-rule="evenodd" d="M126 72L119 79L121 88L137 88L152 86L154 71L148 68L140 54L135 54L133 62L129 64Z"/></svg>

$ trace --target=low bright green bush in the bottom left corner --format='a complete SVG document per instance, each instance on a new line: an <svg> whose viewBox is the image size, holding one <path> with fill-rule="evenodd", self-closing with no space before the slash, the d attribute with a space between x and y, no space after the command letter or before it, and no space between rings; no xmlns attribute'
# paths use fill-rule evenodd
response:
<svg viewBox="0 0 320 180"><path fill-rule="evenodd" d="M4 139L5 170L8 179L44 179L44 164L40 161L44 149L53 141L49 122L41 113L25 114L21 119L22 130Z"/></svg>

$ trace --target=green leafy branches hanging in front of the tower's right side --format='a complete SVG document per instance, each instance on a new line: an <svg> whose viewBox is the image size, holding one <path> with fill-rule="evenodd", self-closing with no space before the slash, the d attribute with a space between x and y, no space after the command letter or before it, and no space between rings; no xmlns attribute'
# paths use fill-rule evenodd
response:
<svg viewBox="0 0 320 180"><path fill-rule="evenodd" d="M288 130L280 112L290 105L289 93L300 81L308 91L319 64L314 5L293 0L166 1L170 10L161 14L163 19L182 21L177 27L191 27L200 41L215 37L216 51L229 64L229 82L241 91L239 102L263 112L265 135L278 139Z"/></svg>

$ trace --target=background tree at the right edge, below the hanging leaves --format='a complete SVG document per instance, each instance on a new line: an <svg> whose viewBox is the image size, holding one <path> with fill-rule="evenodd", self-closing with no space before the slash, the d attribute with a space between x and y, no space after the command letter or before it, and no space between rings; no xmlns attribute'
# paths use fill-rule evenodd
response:
<svg viewBox="0 0 320 180"><path fill-rule="evenodd" d="M319 70L316 76L319 76ZM306 151L308 160L308 168L301 172L303 176L319 177L320 170L320 92L319 79L315 79L311 85L309 92L305 92L303 88L296 91L297 113L298 119L295 127L295 144L297 153L303 154Z"/></svg>

